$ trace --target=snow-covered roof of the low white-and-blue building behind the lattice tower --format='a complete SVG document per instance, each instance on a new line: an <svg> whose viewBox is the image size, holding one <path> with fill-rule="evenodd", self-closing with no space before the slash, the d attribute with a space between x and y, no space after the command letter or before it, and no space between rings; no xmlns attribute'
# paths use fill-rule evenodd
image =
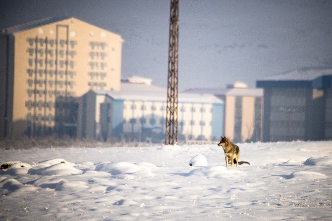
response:
<svg viewBox="0 0 332 221"><path fill-rule="evenodd" d="M132 101L153 101L166 102L167 94L165 92L132 92L132 91L95 91L98 94L105 94L116 100ZM179 93L179 103L220 103L219 98L212 94Z"/></svg>

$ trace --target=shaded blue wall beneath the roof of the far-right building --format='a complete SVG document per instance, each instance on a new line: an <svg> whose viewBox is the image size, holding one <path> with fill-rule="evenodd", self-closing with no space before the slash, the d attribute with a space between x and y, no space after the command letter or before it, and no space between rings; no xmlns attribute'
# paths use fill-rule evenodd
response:
<svg viewBox="0 0 332 221"><path fill-rule="evenodd" d="M264 141L325 139L330 105L325 91L265 88Z"/></svg>

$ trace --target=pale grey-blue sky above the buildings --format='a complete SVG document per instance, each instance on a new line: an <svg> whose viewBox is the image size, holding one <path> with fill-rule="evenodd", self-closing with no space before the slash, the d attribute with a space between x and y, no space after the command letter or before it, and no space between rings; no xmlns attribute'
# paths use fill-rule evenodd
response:
<svg viewBox="0 0 332 221"><path fill-rule="evenodd" d="M331 0L179 0L179 90L332 66ZM0 29L76 17L121 35L122 78L167 86L169 0L0 0Z"/></svg>

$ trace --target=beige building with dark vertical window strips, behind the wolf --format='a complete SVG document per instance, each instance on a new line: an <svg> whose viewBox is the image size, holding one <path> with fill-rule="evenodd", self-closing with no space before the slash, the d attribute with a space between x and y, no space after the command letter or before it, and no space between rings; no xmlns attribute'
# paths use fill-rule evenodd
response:
<svg viewBox="0 0 332 221"><path fill-rule="evenodd" d="M224 102L224 133L234 142L261 140L263 89L236 82L226 88L194 88L185 92L213 94Z"/></svg>

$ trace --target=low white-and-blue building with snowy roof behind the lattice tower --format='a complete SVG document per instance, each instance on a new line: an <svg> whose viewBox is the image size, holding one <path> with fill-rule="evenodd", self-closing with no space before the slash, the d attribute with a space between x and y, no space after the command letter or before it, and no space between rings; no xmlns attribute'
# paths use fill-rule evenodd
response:
<svg viewBox="0 0 332 221"><path fill-rule="evenodd" d="M146 80L123 81L121 91L90 90L86 93L83 106L86 112L96 115L91 118L93 122L84 123L84 117L81 120L85 125L80 128L89 132L84 135L104 140L163 141L166 89L146 84ZM180 93L178 139L218 140L223 134L223 111L223 102L211 94Z"/></svg>

